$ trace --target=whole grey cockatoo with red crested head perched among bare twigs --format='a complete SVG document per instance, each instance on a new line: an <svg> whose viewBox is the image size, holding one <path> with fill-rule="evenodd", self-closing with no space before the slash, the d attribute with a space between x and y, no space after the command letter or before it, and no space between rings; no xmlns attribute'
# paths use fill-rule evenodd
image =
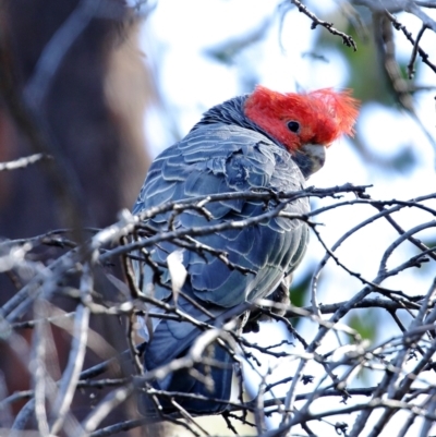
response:
<svg viewBox="0 0 436 437"><path fill-rule="evenodd" d="M281 94L257 86L250 95L209 109L182 141L155 159L133 213L219 193L301 191L307 178L324 165L325 148L341 134L352 134L356 116L358 104L349 92L327 88ZM268 203L253 198L206 203L207 215L191 208L152 217L144 222L144 235L240 222L276 206L274 196ZM300 197L282 210L304 215L310 210L308 201ZM308 228L304 220L267 218L254 226L197 234L195 241L204 245L203 250L194 250L195 241L182 236L180 245L160 241L143 253L143 260L134 262L136 279L143 293L177 305L203 327L180 321L171 311L150 307L149 312L162 317L144 316L145 372L190 357L193 344L205 336L206 325L218 331L230 317L242 316L249 303L271 296L276 290L286 289L287 294L289 278L307 245ZM226 253L232 266L208 248ZM175 299L167 262L174 253L186 272ZM234 359L226 340L219 344L216 335L211 338L215 341L203 350L203 356L215 360L217 366L197 363L196 374L186 368L169 372L167 367L164 377L152 383L165 392L186 393L173 400L192 414L226 409L226 402L204 397L230 398ZM169 396L143 396L142 410L146 413L158 404L162 412L177 410Z"/></svg>

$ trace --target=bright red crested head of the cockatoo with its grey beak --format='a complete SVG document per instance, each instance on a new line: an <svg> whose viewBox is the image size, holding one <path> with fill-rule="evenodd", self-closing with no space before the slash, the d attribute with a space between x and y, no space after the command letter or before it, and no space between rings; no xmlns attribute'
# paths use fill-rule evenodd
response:
<svg viewBox="0 0 436 437"><path fill-rule="evenodd" d="M282 144L298 162L300 159L300 167L310 166L306 171L302 168L308 175L323 167L325 147L342 134L353 134L358 107L359 101L349 90L325 88L281 94L257 86L245 100L244 113Z"/></svg>

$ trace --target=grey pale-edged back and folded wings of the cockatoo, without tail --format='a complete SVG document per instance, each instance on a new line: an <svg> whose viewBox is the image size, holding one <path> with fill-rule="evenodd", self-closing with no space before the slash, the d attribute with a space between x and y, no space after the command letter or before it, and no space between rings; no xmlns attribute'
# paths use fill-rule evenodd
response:
<svg viewBox="0 0 436 437"><path fill-rule="evenodd" d="M304 178L289 153L256 132L226 124L205 125L192 131L183 141L165 150L153 163L133 213L170 201L208 194L268 189L299 191ZM214 219L191 210L179 215L175 229L190 229L243 220L266 213L276 206L259 201L221 201L207 209ZM305 214L306 199L295 201L287 211ZM149 223L166 229L170 213L155 217ZM306 245L307 229L299 220L274 218L257 226L216 232L197 240L228 253L230 262L256 274L244 275L209 253L184 251L183 264L189 272L192 294L204 303L223 307L246 300L266 296L274 291L284 272L299 263ZM160 243L153 253L159 265L166 264L177 246ZM148 268L149 269L149 268ZM145 266L147 270L147 266ZM162 282L170 281L164 268ZM145 280L153 275L145 271ZM169 289L155 287L158 299L167 299Z"/></svg>

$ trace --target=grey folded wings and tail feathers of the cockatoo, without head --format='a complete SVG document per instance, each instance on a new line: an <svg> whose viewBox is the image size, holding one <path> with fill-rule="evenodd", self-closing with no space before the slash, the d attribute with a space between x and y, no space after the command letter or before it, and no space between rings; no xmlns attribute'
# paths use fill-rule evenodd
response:
<svg viewBox="0 0 436 437"><path fill-rule="evenodd" d="M171 201L209 194L265 189L277 192L299 191L303 187L304 178L291 156L264 135L233 125L204 125L192 131L154 161L133 213ZM173 229L198 229L241 221L267 213L276 206L275 201L265 203L253 199L209 203L206 207L211 220L191 209L173 217ZM287 205L286 210L305 214L308 211L308 203L305 198L298 199ZM147 226L166 231L171 214L160 214L148 220ZM182 291L189 299L179 295L177 305L191 317L220 327L218 319L227 318L229 313L246 301L272 293L283 277L296 266L306 246L307 227L299 220L277 217L265 219L256 226L196 236L196 240L227 253L231 263L249 271L229 268L210 252L184 250L182 262L187 278ZM177 244L160 242L150 251L150 259L161 271L160 283L154 280L155 269L148 263L134 264L136 274L143 275L144 292L154 293L155 298L171 304L174 304L174 300L167 257L175 250L179 250ZM190 300L196 301L206 311L193 305ZM202 330L189 321L154 319L153 333L148 333L149 341L144 353L146 369L168 364L183 355L201 333ZM223 368L211 369L215 383L213 393L184 371L169 374L158 386L170 391L229 399L232 359L218 344L214 345L214 351L215 359L222 363ZM147 402L145 399L145 404ZM193 400L186 400L183 406L194 412L222 410L222 404ZM170 405L167 408L171 410Z"/></svg>

